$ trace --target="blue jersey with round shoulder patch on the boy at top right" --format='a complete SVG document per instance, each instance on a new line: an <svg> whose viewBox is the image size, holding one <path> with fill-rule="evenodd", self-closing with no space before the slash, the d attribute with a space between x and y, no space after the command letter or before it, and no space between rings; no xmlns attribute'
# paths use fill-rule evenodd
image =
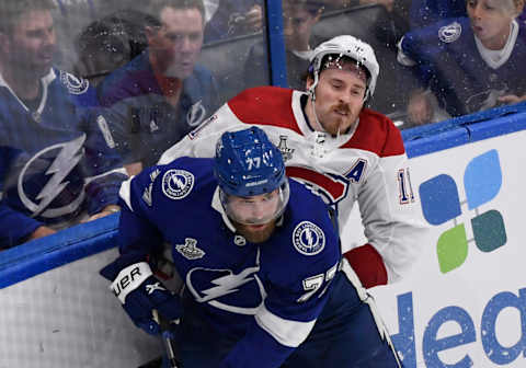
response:
<svg viewBox="0 0 526 368"><path fill-rule="evenodd" d="M526 26L513 22L517 33L502 65L490 66L476 44L469 19L457 18L408 33L401 48L418 64L419 76L451 116L495 107L498 97L526 94ZM513 39L513 38L512 38Z"/></svg>

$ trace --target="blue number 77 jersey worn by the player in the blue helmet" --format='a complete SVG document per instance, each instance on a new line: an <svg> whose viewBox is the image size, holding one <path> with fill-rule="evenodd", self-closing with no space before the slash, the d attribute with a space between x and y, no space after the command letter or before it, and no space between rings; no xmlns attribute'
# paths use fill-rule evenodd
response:
<svg viewBox="0 0 526 368"><path fill-rule="evenodd" d="M275 232L255 244L222 211L213 159L185 157L147 169L123 184L121 197L118 268L168 241L192 313L221 340L238 341L229 363L279 367L307 338L341 258L321 198L290 180Z"/></svg>

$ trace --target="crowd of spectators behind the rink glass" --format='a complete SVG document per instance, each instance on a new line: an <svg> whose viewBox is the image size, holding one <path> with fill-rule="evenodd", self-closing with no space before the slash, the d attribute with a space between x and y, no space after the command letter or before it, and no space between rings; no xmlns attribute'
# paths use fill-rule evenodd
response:
<svg viewBox="0 0 526 368"><path fill-rule="evenodd" d="M229 97L270 84L264 7L2 1L1 16L13 21L0 20L0 250L118 211L123 180ZM370 107L400 129L525 100L523 0L283 0L282 8L286 80L297 90L319 43L373 16L356 35L380 61Z"/></svg>

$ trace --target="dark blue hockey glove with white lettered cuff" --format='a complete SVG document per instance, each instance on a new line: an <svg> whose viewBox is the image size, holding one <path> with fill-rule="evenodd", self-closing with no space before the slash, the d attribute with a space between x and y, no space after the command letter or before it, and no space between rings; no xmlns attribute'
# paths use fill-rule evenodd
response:
<svg viewBox="0 0 526 368"><path fill-rule="evenodd" d="M153 276L148 263L139 262L117 272L115 263L111 263L101 269L101 275L113 280L110 288L138 327L152 335L160 334L161 329L152 315L155 309L170 322L181 317L179 297Z"/></svg>

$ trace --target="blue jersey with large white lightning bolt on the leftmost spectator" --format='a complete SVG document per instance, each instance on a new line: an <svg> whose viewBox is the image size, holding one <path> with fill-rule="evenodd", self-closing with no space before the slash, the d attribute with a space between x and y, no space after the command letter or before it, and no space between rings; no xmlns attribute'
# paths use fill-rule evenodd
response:
<svg viewBox="0 0 526 368"><path fill-rule="evenodd" d="M31 111L0 76L0 249L117 202L125 175L88 81L53 70Z"/></svg>

